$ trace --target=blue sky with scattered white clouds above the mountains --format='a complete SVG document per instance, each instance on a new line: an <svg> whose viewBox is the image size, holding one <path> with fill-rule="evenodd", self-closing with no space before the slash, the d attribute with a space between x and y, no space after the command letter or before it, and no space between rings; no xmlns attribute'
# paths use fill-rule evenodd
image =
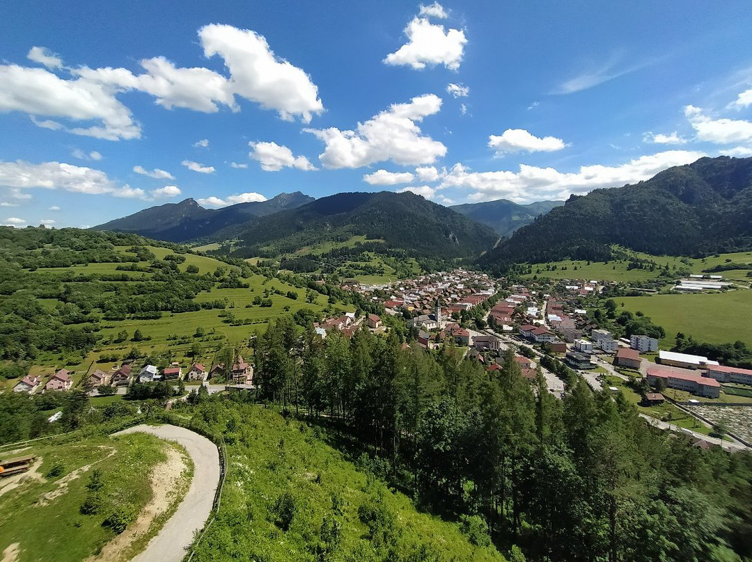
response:
<svg viewBox="0 0 752 562"><path fill-rule="evenodd" d="M748 2L12 2L0 224L566 198L752 156Z"/></svg>

